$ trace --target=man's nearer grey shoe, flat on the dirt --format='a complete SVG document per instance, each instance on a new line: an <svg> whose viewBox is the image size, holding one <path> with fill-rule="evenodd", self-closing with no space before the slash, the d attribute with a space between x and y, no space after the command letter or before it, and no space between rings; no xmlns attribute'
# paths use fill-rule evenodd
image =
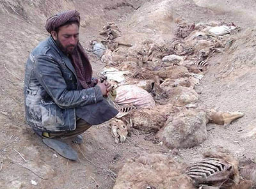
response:
<svg viewBox="0 0 256 189"><path fill-rule="evenodd" d="M56 139L43 139L44 144L46 146L54 149L59 155L67 158L68 160L76 161L78 159L77 152L72 149L68 144L61 142Z"/></svg>

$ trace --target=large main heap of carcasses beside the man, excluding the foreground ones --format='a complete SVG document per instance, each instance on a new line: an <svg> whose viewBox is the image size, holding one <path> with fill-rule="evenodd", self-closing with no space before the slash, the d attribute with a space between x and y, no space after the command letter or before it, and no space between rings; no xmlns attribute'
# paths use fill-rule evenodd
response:
<svg viewBox="0 0 256 189"><path fill-rule="evenodd" d="M133 127L156 133L170 148L193 147L207 139L207 123L228 125L243 116L242 112L205 110L195 91L209 58L225 49L222 36L235 33L237 27L182 21L176 27L175 38L168 43L147 40L131 45L118 41L120 29L108 23L100 32L104 40L92 43L93 52L103 54L99 57L106 64L101 74L115 86L114 102L120 114L111 126L116 143L124 142Z"/></svg>

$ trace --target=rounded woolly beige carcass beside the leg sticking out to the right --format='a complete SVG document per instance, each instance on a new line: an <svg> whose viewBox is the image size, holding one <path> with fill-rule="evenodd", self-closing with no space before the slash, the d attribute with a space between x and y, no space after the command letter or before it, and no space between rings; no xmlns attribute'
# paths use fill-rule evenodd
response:
<svg viewBox="0 0 256 189"><path fill-rule="evenodd" d="M166 121L157 137L171 149L198 146L207 139L206 124L205 112L184 109Z"/></svg>

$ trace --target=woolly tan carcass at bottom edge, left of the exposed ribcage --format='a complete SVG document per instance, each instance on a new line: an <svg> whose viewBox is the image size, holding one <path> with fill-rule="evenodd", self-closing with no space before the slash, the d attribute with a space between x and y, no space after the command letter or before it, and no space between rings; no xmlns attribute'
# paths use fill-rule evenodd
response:
<svg viewBox="0 0 256 189"><path fill-rule="evenodd" d="M194 189L182 166L161 154L144 153L127 160L118 172L113 189L179 188Z"/></svg>

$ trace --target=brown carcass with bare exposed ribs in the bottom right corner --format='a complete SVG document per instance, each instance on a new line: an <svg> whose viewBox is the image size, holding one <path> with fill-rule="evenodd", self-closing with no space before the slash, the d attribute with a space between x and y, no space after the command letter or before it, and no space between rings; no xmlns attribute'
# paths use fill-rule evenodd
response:
<svg viewBox="0 0 256 189"><path fill-rule="evenodd" d="M191 165L186 174L200 188L249 189L252 181L241 178L239 162L227 150L217 149L204 153L204 160ZM248 167L247 167L248 168Z"/></svg>

